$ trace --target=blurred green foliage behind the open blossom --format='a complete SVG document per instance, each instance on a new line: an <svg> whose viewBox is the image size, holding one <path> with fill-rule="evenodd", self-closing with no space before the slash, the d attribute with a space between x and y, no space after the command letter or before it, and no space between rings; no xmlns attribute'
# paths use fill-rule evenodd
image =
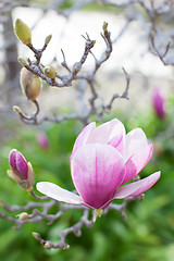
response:
<svg viewBox="0 0 174 261"><path fill-rule="evenodd" d="M127 207L126 221L112 210L98 219L92 228L84 227L82 237L69 235L67 243L71 245L69 250L50 251L36 241L32 232L39 232L45 239L57 243L61 229L78 221L82 214L79 210L67 211L53 225L47 226L44 222L26 224L21 231L14 231L10 222L0 220L1 260L173 261L174 137L167 136L171 135L169 129L173 121L173 103L171 97L167 117L163 121L154 115L152 109L138 111L132 117L117 111L110 115L110 119L116 115L125 124L127 132L141 127L153 141L153 157L140 176L162 171L160 181L146 192L145 200L134 201ZM12 148L18 149L33 163L36 182L50 181L64 188L74 189L70 174L70 156L74 140L83 126L77 122L45 125L50 146L48 150L42 150L36 139L39 127L17 127L17 124L13 123L11 126L17 133L15 138L11 138L1 147L1 200L11 204L25 204L27 200L32 200L32 197L5 174L9 167L8 156Z"/></svg>

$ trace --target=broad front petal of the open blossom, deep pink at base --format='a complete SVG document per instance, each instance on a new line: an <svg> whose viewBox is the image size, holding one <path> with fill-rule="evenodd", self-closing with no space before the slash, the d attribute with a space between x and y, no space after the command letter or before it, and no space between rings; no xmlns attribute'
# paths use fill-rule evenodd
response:
<svg viewBox="0 0 174 261"><path fill-rule="evenodd" d="M121 153L112 146L87 144L74 154L71 172L84 202L100 209L122 183L125 165Z"/></svg>

